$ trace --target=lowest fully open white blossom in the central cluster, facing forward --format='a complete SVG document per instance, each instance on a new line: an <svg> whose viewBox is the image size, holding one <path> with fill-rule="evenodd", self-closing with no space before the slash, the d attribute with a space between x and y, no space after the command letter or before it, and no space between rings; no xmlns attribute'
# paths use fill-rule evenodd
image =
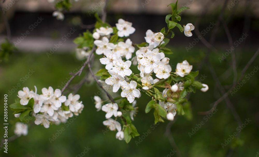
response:
<svg viewBox="0 0 259 157"><path fill-rule="evenodd" d="M121 92L121 97L126 97L127 100L132 103L135 99L135 97L139 97L140 91L136 89L137 87L137 82L135 81L130 81L130 83L127 83L123 85L123 88L125 88Z"/></svg>

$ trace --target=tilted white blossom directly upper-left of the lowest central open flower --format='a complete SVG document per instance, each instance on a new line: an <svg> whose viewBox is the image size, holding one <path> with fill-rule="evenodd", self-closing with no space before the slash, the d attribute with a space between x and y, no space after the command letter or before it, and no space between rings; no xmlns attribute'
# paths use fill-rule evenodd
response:
<svg viewBox="0 0 259 157"><path fill-rule="evenodd" d="M126 82L124 78L121 75L116 74L113 70L108 70L110 73L111 77L107 78L105 80L105 83L107 85L112 85L113 89L112 92L117 92L122 85L123 82Z"/></svg>

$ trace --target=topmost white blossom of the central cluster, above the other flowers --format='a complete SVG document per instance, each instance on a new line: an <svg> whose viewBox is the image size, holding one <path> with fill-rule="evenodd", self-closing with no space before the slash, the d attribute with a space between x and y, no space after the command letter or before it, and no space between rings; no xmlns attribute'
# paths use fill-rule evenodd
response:
<svg viewBox="0 0 259 157"><path fill-rule="evenodd" d="M118 23L116 23L116 28L118 29L119 37L128 37L130 34L135 32L135 28L132 27L132 23L123 19L118 20Z"/></svg>

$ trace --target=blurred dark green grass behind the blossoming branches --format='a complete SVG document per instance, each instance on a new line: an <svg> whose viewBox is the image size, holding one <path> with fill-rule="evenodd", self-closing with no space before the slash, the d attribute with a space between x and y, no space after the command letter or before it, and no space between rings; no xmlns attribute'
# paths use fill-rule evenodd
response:
<svg viewBox="0 0 259 157"><path fill-rule="evenodd" d="M198 46L195 46L189 52L186 52L183 47L170 47L170 49L174 54L166 54L166 57L170 58L172 69L176 68L178 62L186 59L193 65L193 71L196 71L206 52L206 49L199 48ZM246 55L236 54L239 63L238 72L246 65L256 49L246 48L245 51ZM221 54L220 52L224 53L225 50L219 50L219 54ZM101 56L97 56L96 62L99 60L99 57ZM222 63L219 63L218 57L218 54L212 53L210 62L215 67L217 75L220 76L230 67L231 57L227 57ZM258 62L259 59L257 58L246 73L251 72ZM45 53L15 53L12 55L9 63L0 64L0 101L3 102L3 95L8 94L12 89L15 92L8 97L8 104L15 102L17 92L22 87L34 89L33 85L36 85L38 90L48 86L52 86L55 89L66 81L70 71L80 67L81 64L82 62L77 61L71 54L55 54L48 58ZM93 69L95 73L102 68L94 67L97 67ZM30 69L35 71L34 74L22 81ZM137 68L134 67L132 71L137 73ZM73 82L80 81L83 76L77 76ZM222 149L221 143L224 143L225 139L229 138L229 135L233 135L237 131L238 124L224 101L218 105L218 111L210 119L205 117L205 115L198 114L199 111L209 110L211 108L209 104L220 97L210 71L206 66L203 66L199 71L198 78L202 78L202 76L205 76L202 82L208 84L210 89L206 93L197 90L195 94L192 93L190 96L191 106L190 104L183 105L184 108L191 107L192 120L190 120L191 117L186 117L186 119L184 116L176 115L178 119L171 128L171 133L182 156L223 157L226 156L232 147L236 147L233 156L255 156L256 152L259 151L259 136L257 136L259 131L259 76L257 74L254 75L238 92L233 96L229 96L240 115L241 121L244 122L246 118L252 121L241 131L240 139L234 138L224 149ZM226 80L220 79L220 81L223 82L223 85L229 85L233 81L233 76L231 75ZM18 88L16 87L17 83L21 84ZM115 131L107 131L108 129L106 130L106 127L102 124L105 120L105 112L96 112L95 105L91 100L91 97L97 95L98 91L96 83L85 84L78 91L78 94L81 96L80 100L83 101L85 107L76 119L70 119L70 122L66 125L51 125L48 129L45 129L43 126L36 126L32 121L32 124L29 125L28 135L8 142L8 154L3 153L3 150L1 150L1 156L67 157L81 154L85 147L90 148L90 150L84 156L167 156L171 152L172 147L164 136L168 121L154 125L153 113L145 113L146 95L136 99L139 112L134 117L134 125L138 129L140 136L132 138L131 142L126 144L124 141L119 141L115 138ZM101 97L105 99L104 95L101 95ZM1 110L3 110L3 105ZM19 118L15 118L12 115L10 108L8 111L8 136L10 137L13 135L14 124ZM3 114L0 115L0 119L3 119ZM201 121L204 122L204 125L190 138L188 133L191 133L192 129L197 127ZM57 130L61 130L62 127L65 130L58 134ZM1 137L3 133L3 129L1 129ZM55 134L57 135L56 139L50 143L49 138L53 138ZM136 141L140 143L136 145Z"/></svg>

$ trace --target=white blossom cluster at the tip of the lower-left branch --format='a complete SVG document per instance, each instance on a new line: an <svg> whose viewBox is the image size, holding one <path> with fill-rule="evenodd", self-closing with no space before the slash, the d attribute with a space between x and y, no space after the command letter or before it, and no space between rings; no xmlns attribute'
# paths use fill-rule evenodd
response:
<svg viewBox="0 0 259 157"><path fill-rule="evenodd" d="M70 93L68 97L61 94L60 89L53 89L51 86L47 88L42 88L42 94L37 94L37 87L35 87L35 92L33 90L29 90L28 87L23 87L23 90L18 91L18 97L20 101L16 106L12 106L14 109L27 109L28 110L20 110L15 114L15 117L20 117L22 120L23 117L26 116L22 112L28 111L31 112L30 115L35 117L34 123L36 125L43 125L45 128L49 128L49 124L52 122L53 124L65 123L68 118L73 117L73 115L78 115L82 112L84 105L82 101L80 102L80 95L73 95ZM29 102L33 98L33 104L31 105ZM19 106L20 105L20 106ZM31 105L31 106L30 106ZM22 106L27 106L22 107ZM17 125L20 125L18 123ZM24 134L21 131L15 131L17 135Z"/></svg>

